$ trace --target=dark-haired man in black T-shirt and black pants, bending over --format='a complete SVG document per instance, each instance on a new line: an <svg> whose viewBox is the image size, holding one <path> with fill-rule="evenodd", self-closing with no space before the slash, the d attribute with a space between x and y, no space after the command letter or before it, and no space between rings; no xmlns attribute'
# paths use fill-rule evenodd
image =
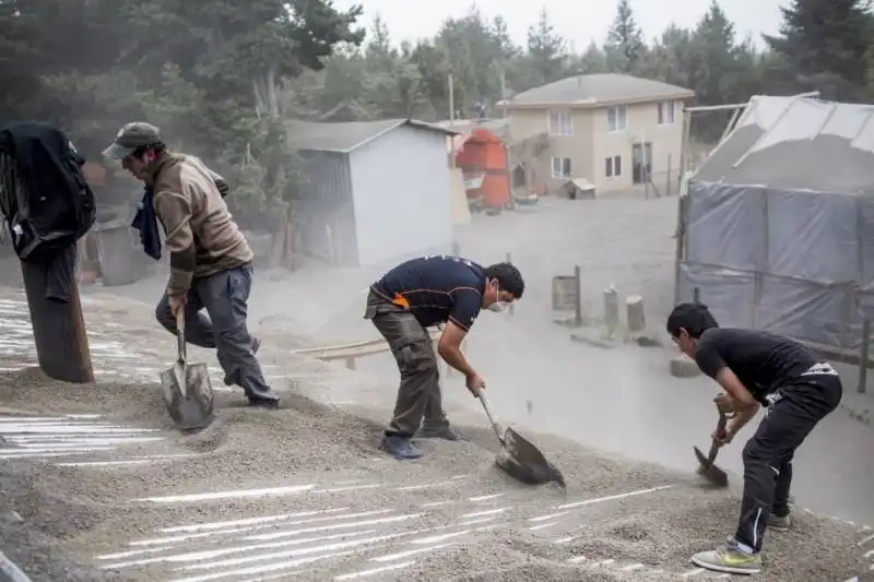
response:
<svg viewBox="0 0 874 582"><path fill-rule="evenodd" d="M668 332L725 394L716 399L721 413L736 413L718 446L766 406L765 417L743 450L744 491L737 531L712 551L692 557L700 568L754 574L761 570L765 530L790 525L792 458L813 428L840 403L838 372L806 346L755 330L719 328L704 305L681 304L668 318Z"/></svg>

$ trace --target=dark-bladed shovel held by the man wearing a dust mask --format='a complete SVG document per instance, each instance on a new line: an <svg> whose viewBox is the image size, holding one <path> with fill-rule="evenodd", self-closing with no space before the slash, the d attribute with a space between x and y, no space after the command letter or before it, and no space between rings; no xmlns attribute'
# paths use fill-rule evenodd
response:
<svg viewBox="0 0 874 582"><path fill-rule="evenodd" d="M495 464L509 476L527 485L543 485L544 483L555 482L563 489L565 488L565 477L552 463L546 461L543 453L527 439L522 438L511 428L500 430L488 399L481 390L477 396L483 403L485 415L495 430L495 435L500 441L500 451L495 458Z"/></svg>

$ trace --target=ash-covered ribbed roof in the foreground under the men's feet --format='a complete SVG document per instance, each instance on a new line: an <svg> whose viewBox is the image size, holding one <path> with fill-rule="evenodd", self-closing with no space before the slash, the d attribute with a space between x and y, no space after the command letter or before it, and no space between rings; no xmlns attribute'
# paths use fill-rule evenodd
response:
<svg viewBox="0 0 874 582"><path fill-rule="evenodd" d="M10 322L16 300L2 299ZM376 450L391 389L269 349L292 379L283 409L218 391L215 425L180 436L149 382L172 359L151 309L92 297L86 310L97 385L11 370L24 334L0 359L0 551L34 581L696 581L688 556L731 533L731 491L557 437L535 440L568 490L516 484L479 414L453 416L470 442L423 442L425 459L397 463ZM324 403L353 391L367 406ZM861 526L796 518L768 538L767 580L866 575Z"/></svg>

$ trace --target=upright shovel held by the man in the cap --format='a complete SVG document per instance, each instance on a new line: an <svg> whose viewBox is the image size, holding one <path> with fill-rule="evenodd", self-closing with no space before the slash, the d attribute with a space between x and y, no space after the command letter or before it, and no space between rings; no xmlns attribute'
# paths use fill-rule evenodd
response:
<svg viewBox="0 0 874 582"><path fill-rule="evenodd" d="M205 364L186 360L185 314L176 317L179 357L172 368L161 372L164 402L179 430L198 430L213 418L213 396L210 373Z"/></svg>

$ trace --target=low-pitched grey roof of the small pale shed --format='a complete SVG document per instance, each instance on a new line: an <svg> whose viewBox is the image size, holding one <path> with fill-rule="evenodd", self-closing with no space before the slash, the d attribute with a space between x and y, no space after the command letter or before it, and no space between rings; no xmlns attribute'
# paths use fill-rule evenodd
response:
<svg viewBox="0 0 874 582"><path fill-rule="evenodd" d="M338 152L347 154L353 150L375 140L401 126L437 131L446 135L456 135L458 132L416 121L415 119L383 119L381 121L350 121L320 123L316 121L290 120L288 145L296 150L311 150L317 152Z"/></svg>

